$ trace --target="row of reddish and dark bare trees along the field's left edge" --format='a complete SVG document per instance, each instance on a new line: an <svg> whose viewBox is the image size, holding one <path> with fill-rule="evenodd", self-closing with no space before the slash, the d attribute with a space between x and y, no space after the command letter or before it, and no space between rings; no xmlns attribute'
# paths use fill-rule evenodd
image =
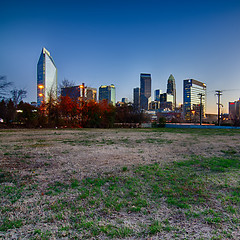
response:
<svg viewBox="0 0 240 240"><path fill-rule="evenodd" d="M25 90L10 91L10 86L5 78L0 78L0 122L3 127L111 128L117 123L126 126L147 120L146 115L130 104L115 107L106 100L98 103L69 96L54 99L50 94L46 102L36 107L23 101L27 94Z"/></svg>

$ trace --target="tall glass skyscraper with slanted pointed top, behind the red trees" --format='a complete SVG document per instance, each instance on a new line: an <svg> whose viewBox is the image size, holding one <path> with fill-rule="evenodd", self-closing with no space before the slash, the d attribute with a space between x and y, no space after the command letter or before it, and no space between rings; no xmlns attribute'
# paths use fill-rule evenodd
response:
<svg viewBox="0 0 240 240"><path fill-rule="evenodd" d="M50 95L57 97L57 68L50 52L43 48L37 64L37 105L48 101Z"/></svg>

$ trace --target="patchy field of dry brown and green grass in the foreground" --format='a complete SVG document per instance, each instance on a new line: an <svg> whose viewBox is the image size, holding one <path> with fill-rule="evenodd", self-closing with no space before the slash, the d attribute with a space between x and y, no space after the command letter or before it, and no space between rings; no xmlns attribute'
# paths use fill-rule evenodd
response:
<svg viewBox="0 0 240 240"><path fill-rule="evenodd" d="M240 239L240 131L0 131L0 239Z"/></svg>

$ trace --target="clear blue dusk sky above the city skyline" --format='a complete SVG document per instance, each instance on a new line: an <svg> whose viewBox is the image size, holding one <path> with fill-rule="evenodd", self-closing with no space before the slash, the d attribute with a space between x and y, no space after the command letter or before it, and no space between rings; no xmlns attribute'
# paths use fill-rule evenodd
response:
<svg viewBox="0 0 240 240"><path fill-rule="evenodd" d="M176 79L207 84L207 113L216 113L214 90L240 97L240 0L0 0L0 75L36 101L37 62L50 51L64 78L89 87L114 84L117 100L132 100L140 73L152 74L152 97Z"/></svg>

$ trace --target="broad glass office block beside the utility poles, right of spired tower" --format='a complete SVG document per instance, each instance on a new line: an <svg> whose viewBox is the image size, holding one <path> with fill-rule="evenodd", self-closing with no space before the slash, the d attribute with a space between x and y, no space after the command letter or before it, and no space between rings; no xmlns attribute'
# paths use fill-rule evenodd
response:
<svg viewBox="0 0 240 240"><path fill-rule="evenodd" d="M206 84L194 79L183 80L183 114L185 120L196 121L205 117ZM202 101L201 101L202 99ZM202 106L201 106L202 105Z"/></svg>

